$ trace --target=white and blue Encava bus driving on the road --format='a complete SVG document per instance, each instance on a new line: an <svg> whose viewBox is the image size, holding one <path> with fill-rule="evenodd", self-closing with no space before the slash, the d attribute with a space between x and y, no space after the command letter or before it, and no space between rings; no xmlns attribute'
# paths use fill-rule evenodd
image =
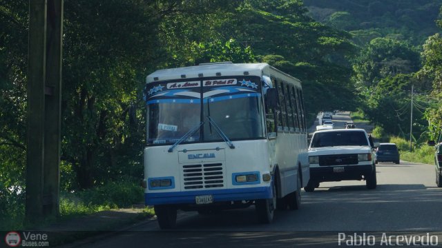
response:
<svg viewBox="0 0 442 248"><path fill-rule="evenodd" d="M177 210L255 205L258 221L298 209L309 181L298 79L266 63L209 63L146 78L146 205L162 229Z"/></svg>

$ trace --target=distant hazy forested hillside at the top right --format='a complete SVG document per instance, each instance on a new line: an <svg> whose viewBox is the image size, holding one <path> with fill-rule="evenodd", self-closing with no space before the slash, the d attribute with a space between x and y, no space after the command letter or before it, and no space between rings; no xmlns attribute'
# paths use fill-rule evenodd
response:
<svg viewBox="0 0 442 248"><path fill-rule="evenodd" d="M439 32L434 20L439 17L442 0L304 0L311 17L347 30L354 42L364 45L377 37L390 37L422 45Z"/></svg>

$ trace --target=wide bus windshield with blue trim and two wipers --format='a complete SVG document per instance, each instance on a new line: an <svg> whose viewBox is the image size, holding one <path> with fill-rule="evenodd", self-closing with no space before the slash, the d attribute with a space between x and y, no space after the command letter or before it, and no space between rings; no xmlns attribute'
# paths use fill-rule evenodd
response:
<svg viewBox="0 0 442 248"><path fill-rule="evenodd" d="M204 125L200 131L182 143L223 141L207 116L231 141L265 138L258 76L149 85L146 87L148 144L173 144L201 122Z"/></svg>

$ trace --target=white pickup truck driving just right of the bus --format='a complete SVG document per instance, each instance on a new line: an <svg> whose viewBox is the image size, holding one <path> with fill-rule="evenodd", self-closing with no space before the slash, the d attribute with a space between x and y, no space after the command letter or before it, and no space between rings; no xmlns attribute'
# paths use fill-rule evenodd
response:
<svg viewBox="0 0 442 248"><path fill-rule="evenodd" d="M317 131L309 147L310 180L304 187L313 192L321 182L365 180L376 188L373 141L362 129Z"/></svg>

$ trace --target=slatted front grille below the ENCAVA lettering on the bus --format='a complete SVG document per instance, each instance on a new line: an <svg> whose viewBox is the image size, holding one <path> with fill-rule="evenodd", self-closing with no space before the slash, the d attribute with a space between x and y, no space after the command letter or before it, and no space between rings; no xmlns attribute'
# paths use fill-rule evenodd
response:
<svg viewBox="0 0 442 248"><path fill-rule="evenodd" d="M224 187L222 163L183 165L184 189L209 189Z"/></svg>

